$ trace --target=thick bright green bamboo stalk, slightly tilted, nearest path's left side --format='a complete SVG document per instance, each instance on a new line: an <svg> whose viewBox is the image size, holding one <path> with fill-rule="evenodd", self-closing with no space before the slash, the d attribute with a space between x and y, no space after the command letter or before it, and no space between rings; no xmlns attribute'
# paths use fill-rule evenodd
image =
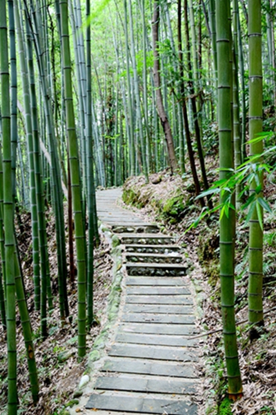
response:
<svg viewBox="0 0 276 415"><path fill-rule="evenodd" d="M72 102L72 79L70 44L68 31L68 1L59 1L61 10L61 50L63 55L63 76L65 81L64 99L66 104L66 128L70 171L72 180L72 202L75 218L75 235L77 247L77 276L78 276L78 353L79 357L86 354L86 246L83 229L81 208L81 186L79 178L79 155L77 147L77 134L75 128L75 115Z"/></svg>

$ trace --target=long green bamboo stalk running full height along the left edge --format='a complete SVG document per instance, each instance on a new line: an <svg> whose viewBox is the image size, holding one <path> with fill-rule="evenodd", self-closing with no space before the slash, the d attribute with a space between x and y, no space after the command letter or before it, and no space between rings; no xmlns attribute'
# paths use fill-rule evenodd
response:
<svg viewBox="0 0 276 415"><path fill-rule="evenodd" d="M5 229L5 267L8 343L8 415L17 414L17 340L15 324L14 218L12 199L12 146L10 131L10 74L8 66L8 28L6 1L0 0L0 80L3 142L3 223Z"/></svg>

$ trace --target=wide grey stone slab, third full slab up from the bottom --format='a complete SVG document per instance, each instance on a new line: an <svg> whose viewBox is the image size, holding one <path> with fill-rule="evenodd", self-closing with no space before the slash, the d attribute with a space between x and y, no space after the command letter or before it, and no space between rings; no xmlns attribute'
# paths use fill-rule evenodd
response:
<svg viewBox="0 0 276 415"><path fill-rule="evenodd" d="M132 358L108 358L101 371L150 374L174 378L197 378L190 363L165 362Z"/></svg>

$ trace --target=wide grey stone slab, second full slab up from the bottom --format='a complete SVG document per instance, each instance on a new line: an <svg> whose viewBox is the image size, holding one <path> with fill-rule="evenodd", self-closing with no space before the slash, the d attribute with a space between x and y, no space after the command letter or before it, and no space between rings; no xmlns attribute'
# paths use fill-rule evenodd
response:
<svg viewBox="0 0 276 415"><path fill-rule="evenodd" d="M141 374L108 374L97 378L96 389L161 394L195 394L196 383L190 378L166 378Z"/></svg>

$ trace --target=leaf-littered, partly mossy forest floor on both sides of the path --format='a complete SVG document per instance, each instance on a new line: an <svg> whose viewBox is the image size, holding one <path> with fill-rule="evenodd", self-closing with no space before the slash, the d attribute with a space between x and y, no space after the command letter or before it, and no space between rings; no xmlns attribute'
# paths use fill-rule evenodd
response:
<svg viewBox="0 0 276 415"><path fill-rule="evenodd" d="M210 167L211 169L211 167ZM214 173L215 178L215 173ZM184 255L189 258L190 277L198 293L199 325L206 336L199 338L203 356L198 373L204 378L204 390L199 396L199 415L255 415L276 414L276 292L275 292L275 210L266 215L264 225L264 310L265 326L259 339L250 342L248 338L247 316L247 253L248 229L241 216L237 222L236 255L236 311L237 336L239 342L240 365L244 384L244 398L230 404L226 398L226 371L224 348L221 336L221 316L219 305L219 235L218 218L212 215L207 222L202 221L196 228L186 229L200 213L193 199L193 182L188 176L171 176L167 171L150 176L145 184L144 177L132 177L124 186L124 201L127 209L135 209L143 218L157 222L161 229L179 237ZM266 197L275 209L275 184L267 183ZM122 202L123 203L123 202ZM124 204L124 203L123 203ZM19 414L58 415L69 403L74 402L73 394L86 369L86 359L81 363L77 358L77 292L69 289L70 316L65 325L59 324L58 305L48 317L49 336L42 341L39 337L39 315L34 311L31 262L30 215L21 213L23 228L18 229L19 250L30 318L34 332L39 383L41 385L39 403L32 405L29 392L28 368L25 346L19 326L17 344L19 349ZM23 232L22 232L23 230ZM67 230L66 230L67 231ZM51 274L57 274L55 221L48 213L47 232L49 236ZM88 350L106 320L106 304L112 281L112 259L110 246L104 240L95 250L95 313L97 325L88 334ZM57 297L57 280L53 280L53 290ZM57 298L56 298L57 301ZM207 335L207 333L209 333ZM0 413L6 414L7 369L6 339L0 327Z"/></svg>

